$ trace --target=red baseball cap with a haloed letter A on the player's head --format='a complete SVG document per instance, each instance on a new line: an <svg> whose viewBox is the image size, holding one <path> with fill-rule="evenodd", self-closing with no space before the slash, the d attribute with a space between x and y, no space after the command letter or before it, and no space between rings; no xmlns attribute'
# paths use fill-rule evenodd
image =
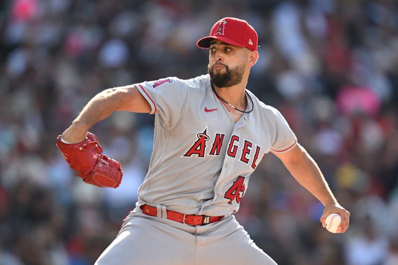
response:
<svg viewBox="0 0 398 265"><path fill-rule="evenodd" d="M199 48L208 49L212 39L257 51L257 32L246 20L224 17L213 25L210 36L201 38L196 45Z"/></svg>

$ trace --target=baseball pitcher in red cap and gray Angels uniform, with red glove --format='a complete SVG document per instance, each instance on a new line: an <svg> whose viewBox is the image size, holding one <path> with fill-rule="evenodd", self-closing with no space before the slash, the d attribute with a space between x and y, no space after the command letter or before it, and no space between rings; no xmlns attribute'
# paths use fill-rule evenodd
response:
<svg viewBox="0 0 398 265"><path fill-rule="evenodd" d="M284 117L245 89L259 57L257 39L245 20L222 18L197 43L209 50L207 75L104 90L58 137L84 181L117 187L120 164L102 154L88 130L114 111L155 114L153 154L136 207L96 264L276 264L233 215L269 152L324 205L323 227L327 215L338 213L338 232L346 231L349 212Z"/></svg>

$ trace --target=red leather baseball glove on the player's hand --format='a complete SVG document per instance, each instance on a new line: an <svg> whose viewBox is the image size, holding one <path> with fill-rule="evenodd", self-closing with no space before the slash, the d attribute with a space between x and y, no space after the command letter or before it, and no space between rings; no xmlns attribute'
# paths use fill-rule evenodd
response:
<svg viewBox="0 0 398 265"><path fill-rule="evenodd" d="M98 138L87 132L86 140L77 144L66 144L57 138L57 147L69 166L78 172L83 181L99 187L118 187L123 172L118 161L102 154Z"/></svg>

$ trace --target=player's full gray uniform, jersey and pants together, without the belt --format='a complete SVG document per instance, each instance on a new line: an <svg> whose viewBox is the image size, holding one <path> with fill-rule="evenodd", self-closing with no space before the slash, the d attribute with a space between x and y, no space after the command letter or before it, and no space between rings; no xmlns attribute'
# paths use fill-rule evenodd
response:
<svg viewBox="0 0 398 265"><path fill-rule="evenodd" d="M156 114L153 154L137 207L96 265L276 265L231 214L263 156L297 143L281 113L247 91L254 109L235 123L208 75L135 86ZM142 213L143 204L156 206L157 217ZM190 226L167 219L166 208L225 217Z"/></svg>

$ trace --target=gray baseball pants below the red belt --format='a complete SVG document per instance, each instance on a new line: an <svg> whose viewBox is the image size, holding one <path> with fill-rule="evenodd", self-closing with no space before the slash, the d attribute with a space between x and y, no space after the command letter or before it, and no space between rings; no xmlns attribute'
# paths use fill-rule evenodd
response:
<svg viewBox="0 0 398 265"><path fill-rule="evenodd" d="M189 226L130 212L95 265L276 265L233 215Z"/></svg>

